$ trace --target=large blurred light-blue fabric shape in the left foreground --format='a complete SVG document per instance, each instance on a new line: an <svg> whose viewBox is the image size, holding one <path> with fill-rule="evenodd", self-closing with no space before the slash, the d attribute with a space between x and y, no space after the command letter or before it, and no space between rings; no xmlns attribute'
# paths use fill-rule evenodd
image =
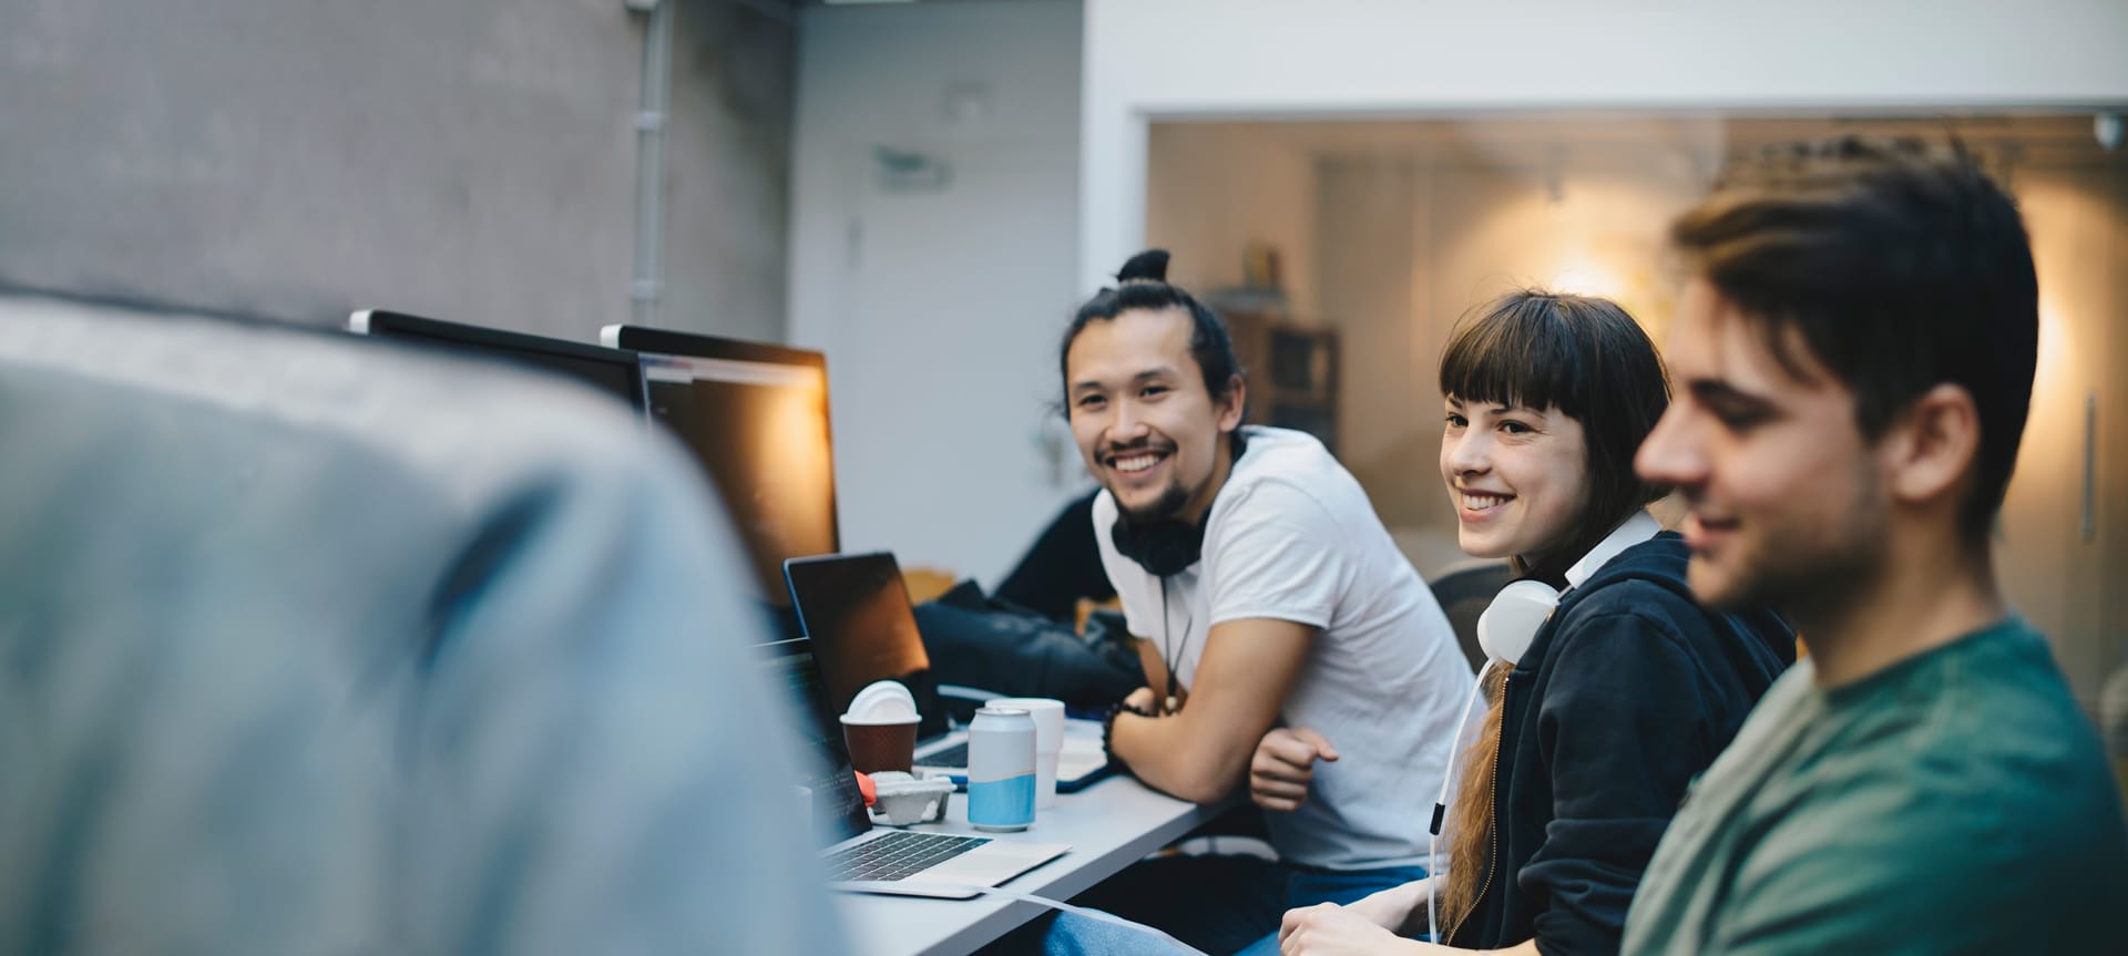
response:
<svg viewBox="0 0 2128 956"><path fill-rule="evenodd" d="M621 405L0 300L0 952L845 952L745 564Z"/></svg>

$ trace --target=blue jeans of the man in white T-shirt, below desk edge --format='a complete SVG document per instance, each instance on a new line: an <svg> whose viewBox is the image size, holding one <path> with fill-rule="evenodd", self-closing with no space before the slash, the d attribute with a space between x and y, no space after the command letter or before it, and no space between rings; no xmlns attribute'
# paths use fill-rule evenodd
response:
<svg viewBox="0 0 2128 956"><path fill-rule="evenodd" d="M1275 954L1287 909L1353 903L1424 875L1426 867L1324 871L1253 856L1164 856L1132 864L1073 903L1160 926L1215 956ZM1049 956L1175 952L1158 937L1073 913L1041 933L1041 952Z"/></svg>

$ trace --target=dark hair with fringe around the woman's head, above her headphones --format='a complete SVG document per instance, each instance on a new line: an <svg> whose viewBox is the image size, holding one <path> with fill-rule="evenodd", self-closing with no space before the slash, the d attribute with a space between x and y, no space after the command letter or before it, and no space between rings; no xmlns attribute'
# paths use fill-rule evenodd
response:
<svg viewBox="0 0 2128 956"><path fill-rule="evenodd" d="M1670 381L1656 343L1626 309L1596 296L1511 292L1460 322L1441 351L1441 394L1498 402L1581 422L1590 500L1560 554L1522 568L1558 579L1668 488L1641 481L1632 456L1670 407Z"/></svg>

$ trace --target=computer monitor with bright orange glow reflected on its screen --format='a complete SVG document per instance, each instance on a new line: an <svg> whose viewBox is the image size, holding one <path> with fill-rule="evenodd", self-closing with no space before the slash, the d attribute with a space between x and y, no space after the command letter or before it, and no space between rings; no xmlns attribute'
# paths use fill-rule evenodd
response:
<svg viewBox="0 0 2128 956"><path fill-rule="evenodd" d="M600 341L643 356L651 417L702 462L753 560L758 596L796 634L783 560L841 549L828 358L645 326L606 326Z"/></svg>

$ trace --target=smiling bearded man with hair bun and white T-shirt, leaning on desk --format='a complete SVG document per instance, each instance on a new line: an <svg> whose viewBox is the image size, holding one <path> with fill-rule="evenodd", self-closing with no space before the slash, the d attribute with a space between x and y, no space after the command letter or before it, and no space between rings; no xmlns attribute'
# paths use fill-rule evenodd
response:
<svg viewBox="0 0 2128 956"><path fill-rule="evenodd" d="M1094 532L1147 688L1109 722L1145 784L1243 790L1273 726L1313 762L1309 798L1266 813L1277 862L1138 864L1081 903L1234 952L1296 905L1424 875L1426 818L1473 673L1360 483L1309 434L1243 426L1226 324L1132 258L1064 334L1064 413L1102 492ZM1394 715L1394 718L1390 718ZM1387 718L1387 720L1385 720Z"/></svg>

